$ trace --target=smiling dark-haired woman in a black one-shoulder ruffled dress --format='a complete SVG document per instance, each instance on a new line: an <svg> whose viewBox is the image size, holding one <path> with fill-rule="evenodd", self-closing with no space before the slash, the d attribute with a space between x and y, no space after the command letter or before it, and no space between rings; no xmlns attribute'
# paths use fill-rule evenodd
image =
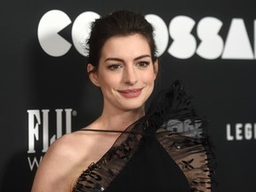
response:
<svg viewBox="0 0 256 192"><path fill-rule="evenodd" d="M148 21L114 12L92 23L87 45L102 113L52 144L32 191L210 191L204 121L180 82L145 114L158 70Z"/></svg>

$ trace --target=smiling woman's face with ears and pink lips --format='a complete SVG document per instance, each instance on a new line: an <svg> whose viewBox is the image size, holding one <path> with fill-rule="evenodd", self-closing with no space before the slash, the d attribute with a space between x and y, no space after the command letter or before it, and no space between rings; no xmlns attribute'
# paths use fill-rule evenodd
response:
<svg viewBox="0 0 256 192"><path fill-rule="evenodd" d="M88 71L92 68L89 64ZM113 36L102 47L99 68L90 78L100 86L105 108L127 111L144 107L153 91L157 68L144 36Z"/></svg>

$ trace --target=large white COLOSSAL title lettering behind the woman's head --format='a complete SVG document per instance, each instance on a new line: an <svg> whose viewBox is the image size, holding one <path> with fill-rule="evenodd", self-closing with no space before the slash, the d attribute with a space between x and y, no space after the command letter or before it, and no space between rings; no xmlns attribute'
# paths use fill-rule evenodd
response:
<svg viewBox="0 0 256 192"><path fill-rule="evenodd" d="M74 21L71 31L77 52L87 56L86 39L90 34L90 24L100 18L96 12L83 12ZM206 60L254 60L256 57L256 20L254 20L254 54L243 19L231 21L226 42L219 35L223 23L214 17L205 17L198 22L196 35L191 34L196 21L188 16L178 15L170 21L167 28L164 20L156 14L145 15L146 20L155 28L157 56L167 49L169 35L172 44L167 52L177 59L189 59L195 52ZM65 55L72 44L60 36L59 32L71 23L68 15L60 10L46 12L39 21L37 36L44 52L52 57ZM200 44L196 44L196 36ZM197 46L197 47L196 47Z"/></svg>

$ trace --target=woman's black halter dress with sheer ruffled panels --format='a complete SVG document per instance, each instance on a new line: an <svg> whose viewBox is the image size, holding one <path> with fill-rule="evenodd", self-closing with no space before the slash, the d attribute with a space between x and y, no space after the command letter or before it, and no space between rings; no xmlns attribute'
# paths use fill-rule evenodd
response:
<svg viewBox="0 0 256 192"><path fill-rule="evenodd" d="M179 81L160 92L146 116L80 175L73 192L211 191L206 121L190 100Z"/></svg>

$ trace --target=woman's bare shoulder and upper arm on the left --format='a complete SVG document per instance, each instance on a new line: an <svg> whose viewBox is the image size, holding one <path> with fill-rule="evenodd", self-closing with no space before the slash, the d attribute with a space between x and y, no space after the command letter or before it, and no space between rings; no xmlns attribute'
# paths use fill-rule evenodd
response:
<svg viewBox="0 0 256 192"><path fill-rule="evenodd" d="M32 191L70 191L82 166L88 164L90 140L83 132L68 133L55 140L39 164Z"/></svg>

